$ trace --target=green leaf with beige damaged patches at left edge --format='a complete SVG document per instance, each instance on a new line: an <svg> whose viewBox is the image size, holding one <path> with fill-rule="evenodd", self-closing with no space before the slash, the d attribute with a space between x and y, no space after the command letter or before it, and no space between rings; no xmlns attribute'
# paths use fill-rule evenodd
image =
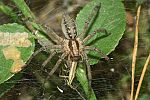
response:
<svg viewBox="0 0 150 100"><path fill-rule="evenodd" d="M23 69L34 51L32 34L16 23L0 26L0 84Z"/></svg>

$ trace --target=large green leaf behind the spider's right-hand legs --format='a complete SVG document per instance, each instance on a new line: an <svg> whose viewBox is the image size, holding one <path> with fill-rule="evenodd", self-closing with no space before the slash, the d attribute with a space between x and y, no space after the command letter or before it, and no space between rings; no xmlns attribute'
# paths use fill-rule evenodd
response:
<svg viewBox="0 0 150 100"><path fill-rule="evenodd" d="M101 4L100 11L88 34L99 28L105 28L111 34L103 37L104 33L97 33L86 44L97 47L104 54L109 54L118 45L125 31L125 8L121 0L92 0L92 2L88 3L77 15L77 29L78 34L80 34L88 15L99 3ZM95 51L90 52L89 55L92 56L90 61L91 65L96 64L101 57L100 54Z"/></svg>

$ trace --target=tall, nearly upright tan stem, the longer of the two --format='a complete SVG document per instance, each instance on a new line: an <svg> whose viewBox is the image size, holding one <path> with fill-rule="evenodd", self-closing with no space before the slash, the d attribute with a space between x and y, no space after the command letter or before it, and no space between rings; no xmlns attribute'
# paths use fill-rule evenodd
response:
<svg viewBox="0 0 150 100"><path fill-rule="evenodd" d="M134 73L135 73L135 64L136 64L136 56L137 56L137 48L138 48L138 26L139 26L139 16L140 16L141 6L138 7L137 15L136 15L136 27L135 27L135 40L134 40L134 48L133 48L133 55L132 55L132 89L131 89L131 96L130 100L133 100L133 93L134 93Z"/></svg>

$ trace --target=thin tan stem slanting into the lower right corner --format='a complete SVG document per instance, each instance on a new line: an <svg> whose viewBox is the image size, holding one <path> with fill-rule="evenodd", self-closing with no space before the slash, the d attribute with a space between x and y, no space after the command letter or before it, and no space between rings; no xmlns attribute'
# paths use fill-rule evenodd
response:
<svg viewBox="0 0 150 100"><path fill-rule="evenodd" d="M138 87L137 87L137 90L136 90L136 94L135 94L135 99L134 100L137 100L137 98L138 98L138 95L139 95L139 92L140 92L140 88L141 88L141 84L142 84L142 81L143 81L146 69L148 67L149 61L150 61L150 54L147 57L147 60L146 60L145 65L143 67L143 71L142 71L142 74L141 74L141 77L140 77L140 80L139 80L139 84L138 84Z"/></svg>

